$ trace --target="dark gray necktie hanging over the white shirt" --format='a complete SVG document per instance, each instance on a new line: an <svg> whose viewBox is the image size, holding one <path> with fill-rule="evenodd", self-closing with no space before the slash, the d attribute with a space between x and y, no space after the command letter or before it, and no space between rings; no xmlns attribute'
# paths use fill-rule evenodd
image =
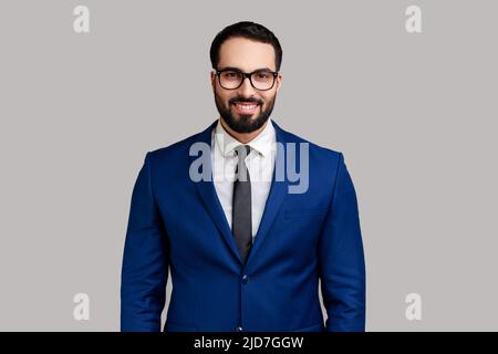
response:
<svg viewBox="0 0 498 354"><path fill-rule="evenodd" d="M238 163L236 167L236 179L234 181L231 214L231 230L243 261L246 261L252 246L251 179L246 166L246 156L249 155L250 149L249 145L239 145L236 147Z"/></svg>

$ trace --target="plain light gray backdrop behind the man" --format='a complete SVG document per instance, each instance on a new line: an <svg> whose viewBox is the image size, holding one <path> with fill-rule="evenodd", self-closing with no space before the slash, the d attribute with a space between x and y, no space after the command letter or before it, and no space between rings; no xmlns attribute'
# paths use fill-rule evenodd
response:
<svg viewBox="0 0 498 354"><path fill-rule="evenodd" d="M89 34L73 31L77 4ZM405 31L409 4L421 34ZM135 178L147 150L218 117L208 50L239 20L281 41L273 118L344 153L367 330L498 330L497 13L491 0L2 0L0 330L118 330ZM79 292L90 321L73 319ZM412 292L422 321L405 317Z"/></svg>

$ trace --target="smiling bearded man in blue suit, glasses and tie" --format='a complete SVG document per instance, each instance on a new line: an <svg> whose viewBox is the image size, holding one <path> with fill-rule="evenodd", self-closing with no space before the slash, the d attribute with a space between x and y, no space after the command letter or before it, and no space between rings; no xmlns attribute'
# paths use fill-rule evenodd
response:
<svg viewBox="0 0 498 354"><path fill-rule="evenodd" d="M133 190L122 330L160 331L169 269L164 331L364 331L362 236L342 153L269 118L282 50L267 28L227 27L210 58L219 119L147 153Z"/></svg>

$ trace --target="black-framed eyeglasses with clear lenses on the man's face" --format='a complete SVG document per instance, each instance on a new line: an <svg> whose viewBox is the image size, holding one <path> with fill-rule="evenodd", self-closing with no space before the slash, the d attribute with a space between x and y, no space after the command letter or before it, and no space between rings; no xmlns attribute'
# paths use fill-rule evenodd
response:
<svg viewBox="0 0 498 354"><path fill-rule="evenodd" d="M235 69L216 70L219 85L226 90L239 88L246 77L249 79L249 82L256 90L271 90L274 85L274 77L277 77L278 74L278 71L270 70L257 70L251 73L243 73L240 70Z"/></svg>

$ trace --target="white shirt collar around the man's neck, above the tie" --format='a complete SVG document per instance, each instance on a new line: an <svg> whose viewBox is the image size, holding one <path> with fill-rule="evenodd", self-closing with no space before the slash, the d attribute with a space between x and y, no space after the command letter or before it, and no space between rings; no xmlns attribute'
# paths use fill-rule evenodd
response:
<svg viewBox="0 0 498 354"><path fill-rule="evenodd" d="M221 118L218 119L218 123L215 128L215 139L216 145L218 145L218 148L224 157L230 157L235 155L235 148L238 145L241 145L239 140L237 140L235 137L232 137L221 125ZM272 144L276 139L276 133L273 124L271 123L271 119L269 118L267 122L267 125L262 129L261 133L258 134L252 140L247 143L251 147L251 149L255 149L263 157L268 157L271 154Z"/></svg>

